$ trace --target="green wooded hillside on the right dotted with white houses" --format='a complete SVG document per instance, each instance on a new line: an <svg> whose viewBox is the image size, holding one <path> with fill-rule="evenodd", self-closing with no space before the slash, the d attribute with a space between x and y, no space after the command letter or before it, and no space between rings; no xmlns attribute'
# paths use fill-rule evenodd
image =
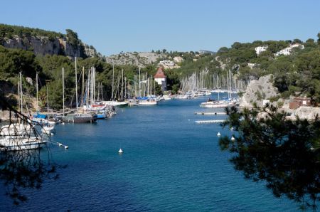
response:
<svg viewBox="0 0 320 212"><path fill-rule="evenodd" d="M318 40L235 42L217 53L220 68L232 70L240 80L274 76L273 85L284 99L310 97L320 102L320 33Z"/></svg>

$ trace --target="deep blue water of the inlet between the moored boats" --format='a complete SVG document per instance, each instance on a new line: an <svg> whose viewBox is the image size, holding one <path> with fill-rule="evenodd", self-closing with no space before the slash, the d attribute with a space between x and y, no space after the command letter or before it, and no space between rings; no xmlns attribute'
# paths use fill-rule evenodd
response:
<svg viewBox="0 0 320 212"><path fill-rule="evenodd" d="M20 206L1 190L0 211L297 211L296 203L233 169L216 137L231 136L229 129L194 122L224 118L194 115L205 100L163 101L119 109L97 124L57 125L53 139L69 149L50 149L68 167L58 170L60 179L25 191L29 200Z"/></svg>

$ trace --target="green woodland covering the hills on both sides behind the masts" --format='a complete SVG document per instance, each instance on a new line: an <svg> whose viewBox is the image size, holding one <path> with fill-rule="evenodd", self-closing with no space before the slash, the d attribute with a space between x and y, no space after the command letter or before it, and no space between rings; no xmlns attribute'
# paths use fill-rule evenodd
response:
<svg viewBox="0 0 320 212"><path fill-rule="evenodd" d="M39 29L12 27L0 25L0 41L18 37L40 37L66 39L70 45L81 43L77 33L67 31L66 35ZM320 37L320 34L318 34ZM320 38L319 38L320 39ZM178 65L181 68L165 70L167 88L174 93L180 87L180 79L193 72L199 72L208 68L209 75L219 73L226 74L232 70L240 79L256 79L262 75L272 73L274 75L274 85L277 86L282 97L289 95L307 95L317 103L320 102L320 40L308 39L302 42L298 39L294 41L254 41L252 43L235 42L230 48L220 48L215 54L200 54L198 52L168 52L166 50L153 51L161 54L154 63L141 68L141 73L154 75L160 60L181 56L183 61ZM1 42L0 42L1 43ZM274 53L286 48L293 43L304 45L304 49L293 48L291 55L275 56ZM267 50L257 55L255 48L267 46ZM92 47L93 48L93 47ZM112 85L112 64L105 62L103 57L93 55L87 58L86 55L78 56L78 78L80 70L87 70L95 67L97 72L97 82L102 83L105 100L110 99ZM253 65L252 65L253 64ZM251 66L250 66L251 65ZM48 87L48 98L50 107L58 109L62 105L62 68L65 68L65 93L69 105L75 105L73 96L75 95L75 63L72 57L65 54L52 53L38 55L34 49L6 48L0 45L0 89L2 95L17 93L18 73L23 74L24 93L34 96L36 92L36 73L40 78L40 93L43 106L46 103L46 88ZM139 73L136 65L114 65L114 75L117 77L124 70L124 76L132 83L134 75ZM33 85L26 81L26 78L33 80ZM79 88L79 87L78 87ZM79 88L80 89L80 88ZM80 92L80 91L78 91ZM161 93L159 88L157 92ZM14 97L11 102L15 104ZM68 105L68 104L67 104Z"/></svg>

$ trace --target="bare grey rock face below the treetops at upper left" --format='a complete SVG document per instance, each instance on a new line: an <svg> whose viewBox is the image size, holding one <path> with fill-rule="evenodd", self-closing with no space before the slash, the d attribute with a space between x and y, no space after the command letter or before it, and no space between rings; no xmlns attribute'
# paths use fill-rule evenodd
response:
<svg viewBox="0 0 320 212"><path fill-rule="evenodd" d="M62 38L49 39L46 36L30 36L29 38L13 36L13 38L4 38L4 41L0 44L6 48L32 50L36 55L66 55L70 57L98 55L95 48L90 48L83 43L83 46L72 46ZM84 48L85 55L81 53L81 48Z"/></svg>

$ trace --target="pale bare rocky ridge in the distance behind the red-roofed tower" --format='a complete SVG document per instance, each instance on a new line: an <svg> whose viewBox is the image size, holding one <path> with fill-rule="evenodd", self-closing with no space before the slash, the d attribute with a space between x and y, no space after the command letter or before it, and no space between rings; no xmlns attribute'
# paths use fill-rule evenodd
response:
<svg viewBox="0 0 320 212"><path fill-rule="evenodd" d="M114 65L137 65L140 68L144 68L146 65L155 63L159 58L164 58L162 53L120 53L118 55L111 55L106 57L107 63L114 63Z"/></svg>

